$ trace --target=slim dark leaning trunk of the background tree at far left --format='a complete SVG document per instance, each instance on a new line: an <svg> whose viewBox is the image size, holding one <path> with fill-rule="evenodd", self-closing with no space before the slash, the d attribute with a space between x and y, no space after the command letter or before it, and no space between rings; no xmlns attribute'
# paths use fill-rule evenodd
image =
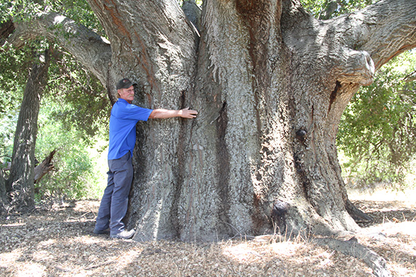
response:
<svg viewBox="0 0 416 277"><path fill-rule="evenodd" d="M15 208L33 208L35 205L35 144L40 98L49 69L49 51L41 60L35 60L21 102L13 145L12 165L6 181L6 190Z"/></svg>

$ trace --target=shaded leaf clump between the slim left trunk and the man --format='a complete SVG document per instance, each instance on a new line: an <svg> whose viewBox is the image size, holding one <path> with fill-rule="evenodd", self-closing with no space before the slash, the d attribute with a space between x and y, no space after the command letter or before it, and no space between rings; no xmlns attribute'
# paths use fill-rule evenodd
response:
<svg viewBox="0 0 416 277"><path fill-rule="evenodd" d="M44 102L67 103L51 110L51 118L60 120L64 129L76 127L80 137L89 141L108 125L110 102L101 82L86 71L71 55L62 55L51 65L49 93Z"/></svg>

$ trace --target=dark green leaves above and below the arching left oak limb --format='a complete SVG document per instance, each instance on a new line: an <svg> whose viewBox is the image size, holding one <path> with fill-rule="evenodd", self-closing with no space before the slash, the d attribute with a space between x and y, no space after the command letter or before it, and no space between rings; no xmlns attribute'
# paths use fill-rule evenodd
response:
<svg viewBox="0 0 416 277"><path fill-rule="evenodd" d="M0 0L0 7L2 21L10 17L13 17L14 21L29 19L36 12L55 10L97 33L103 33L94 13L83 0ZM99 127L105 127L107 124L110 109L107 93L94 75L86 71L71 55L67 55L62 48L46 39L28 42L18 50L10 48L7 44L0 48L0 111L8 114L10 109L19 106L28 68L35 58L33 53L42 52L46 48L52 48L53 51L49 83L43 93L44 101L70 104L62 111L56 111L55 120L62 120L67 127L76 125L83 129L84 139L94 136Z"/></svg>

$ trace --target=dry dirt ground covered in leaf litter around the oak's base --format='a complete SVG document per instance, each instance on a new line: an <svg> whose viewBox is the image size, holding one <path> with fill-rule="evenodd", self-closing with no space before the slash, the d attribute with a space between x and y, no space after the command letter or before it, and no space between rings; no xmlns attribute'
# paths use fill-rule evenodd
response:
<svg viewBox="0 0 416 277"><path fill-rule="evenodd" d="M383 256L392 276L416 276L413 201L353 201L372 215L358 242ZM360 259L309 238L216 243L134 242L94 235L99 202L0 217L0 276L372 276Z"/></svg>

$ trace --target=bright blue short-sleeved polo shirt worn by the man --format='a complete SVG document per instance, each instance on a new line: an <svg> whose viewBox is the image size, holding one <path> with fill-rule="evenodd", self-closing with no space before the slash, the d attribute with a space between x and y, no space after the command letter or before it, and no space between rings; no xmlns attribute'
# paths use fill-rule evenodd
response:
<svg viewBox="0 0 416 277"><path fill-rule="evenodd" d="M119 99L111 109L110 145L108 159L120 159L127 152L133 153L136 143L137 121L147 121L152 109L145 109Z"/></svg>

